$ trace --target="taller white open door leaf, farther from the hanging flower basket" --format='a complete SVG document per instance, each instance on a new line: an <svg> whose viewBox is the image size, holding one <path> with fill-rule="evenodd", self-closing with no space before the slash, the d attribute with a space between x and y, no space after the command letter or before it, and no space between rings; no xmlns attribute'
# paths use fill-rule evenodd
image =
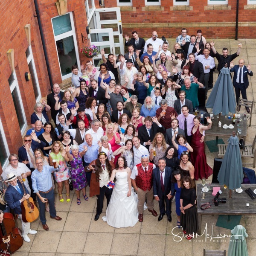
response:
<svg viewBox="0 0 256 256"><path fill-rule="evenodd" d="M122 21L119 7L95 10L97 29L113 29L115 54L124 55L124 41L122 36Z"/></svg>

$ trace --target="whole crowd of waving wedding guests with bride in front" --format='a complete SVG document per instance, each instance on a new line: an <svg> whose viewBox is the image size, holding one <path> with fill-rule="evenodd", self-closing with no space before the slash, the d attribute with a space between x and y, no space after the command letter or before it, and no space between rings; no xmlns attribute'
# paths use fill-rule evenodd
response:
<svg viewBox="0 0 256 256"><path fill-rule="evenodd" d="M21 203L31 196L38 201L44 230L49 230L45 211L61 220L56 215L55 184L61 203L70 202L73 187L78 207L90 200L85 190L90 186L90 197L97 197L95 221L106 197L103 220L113 227L132 227L143 221L146 208L158 215L154 199L160 208L158 221L167 215L171 222L175 197L177 226L192 239L198 231L195 180L212 175L204 148L204 132L212 121L208 117L208 125L202 125L194 115L198 89L205 87L207 99L213 87L214 57L218 72L226 63L235 72L237 99L240 91L247 99L247 76L241 80L240 70L244 75L253 73L244 60L239 60L239 69L233 63L241 45L233 55L227 48L220 55L201 30L191 36L184 28L181 32L172 48L157 38L156 31L147 41L133 31L131 40L125 35L125 55L108 54L106 59L101 51L99 71L91 61L81 66L82 72L72 66L74 87L62 92L54 84L47 101L36 103L24 145L9 156L2 174L9 183L8 207L2 210L14 211L22 221ZM24 180L26 195L17 176ZM23 239L29 242L27 235L33 233L22 221Z"/></svg>

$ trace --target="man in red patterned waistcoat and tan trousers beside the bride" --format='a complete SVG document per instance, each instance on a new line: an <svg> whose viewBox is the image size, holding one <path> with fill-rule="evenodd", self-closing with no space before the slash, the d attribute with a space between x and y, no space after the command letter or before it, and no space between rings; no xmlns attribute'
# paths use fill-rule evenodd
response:
<svg viewBox="0 0 256 256"><path fill-rule="evenodd" d="M157 216L157 212L154 210L154 195L153 195L153 169L156 166L153 163L149 163L148 155L141 157L141 163L134 166L131 173L131 183L135 191L138 194L138 212L139 221L143 222L144 203L147 198L148 211L153 216Z"/></svg>

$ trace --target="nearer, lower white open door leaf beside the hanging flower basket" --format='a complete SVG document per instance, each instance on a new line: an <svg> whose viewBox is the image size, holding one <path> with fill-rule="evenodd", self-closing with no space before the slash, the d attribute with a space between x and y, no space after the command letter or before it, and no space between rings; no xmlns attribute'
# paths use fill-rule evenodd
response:
<svg viewBox="0 0 256 256"><path fill-rule="evenodd" d="M90 43L98 47L99 52L104 49L105 58L108 59L108 54L115 54L115 45L112 29L91 29ZM93 66L99 70L99 65L102 64L102 55L99 54L93 58Z"/></svg>

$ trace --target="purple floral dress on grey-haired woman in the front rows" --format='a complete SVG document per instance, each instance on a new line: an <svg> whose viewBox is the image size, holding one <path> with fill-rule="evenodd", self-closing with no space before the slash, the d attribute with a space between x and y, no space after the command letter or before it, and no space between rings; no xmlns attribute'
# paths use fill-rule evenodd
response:
<svg viewBox="0 0 256 256"><path fill-rule="evenodd" d="M87 186L87 180L84 172L83 160L79 154L77 158L73 155L73 159L70 161L70 166L71 179L74 189L83 189L85 186Z"/></svg>

